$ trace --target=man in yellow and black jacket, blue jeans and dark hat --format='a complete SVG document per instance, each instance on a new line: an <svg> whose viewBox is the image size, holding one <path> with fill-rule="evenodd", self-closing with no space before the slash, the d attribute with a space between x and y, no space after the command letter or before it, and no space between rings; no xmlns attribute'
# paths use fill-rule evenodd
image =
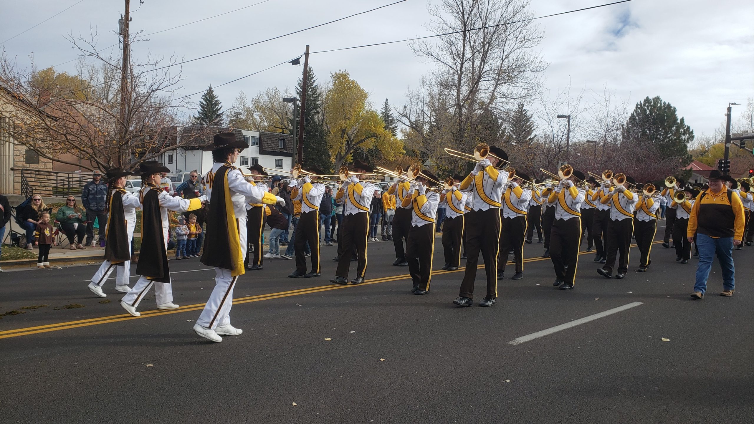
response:
<svg viewBox="0 0 754 424"><path fill-rule="evenodd" d="M722 269L723 290L720 296L733 296L735 290L733 247L739 246L743 240L746 217L740 196L723 186L724 177L716 169L710 171L710 188L700 193L694 201L691 217L688 218L686 237L691 242L696 234L699 249L696 282L694 293L691 293L693 299L704 297L715 255Z"/></svg>

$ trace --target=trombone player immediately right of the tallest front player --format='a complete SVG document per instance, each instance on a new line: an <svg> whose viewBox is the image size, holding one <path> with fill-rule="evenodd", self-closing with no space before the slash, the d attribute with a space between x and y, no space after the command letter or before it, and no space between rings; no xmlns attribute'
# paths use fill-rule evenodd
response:
<svg viewBox="0 0 754 424"><path fill-rule="evenodd" d="M512 171L513 168L508 170L509 180L500 207L498 280L503 278L510 249L513 249L513 261L516 263L516 273L510 279L519 280L523 278L523 241L526 237L526 214L529 212L532 190L521 187L524 181L529 180L528 175Z"/></svg>

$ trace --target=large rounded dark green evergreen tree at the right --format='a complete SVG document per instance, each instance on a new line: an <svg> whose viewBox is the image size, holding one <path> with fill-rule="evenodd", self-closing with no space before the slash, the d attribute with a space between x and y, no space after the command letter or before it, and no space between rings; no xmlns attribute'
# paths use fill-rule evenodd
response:
<svg viewBox="0 0 754 424"><path fill-rule="evenodd" d="M680 158L681 166L691 163L688 143L694 141L694 131L678 118L676 108L659 96L646 97L626 122L624 140L651 143L661 158Z"/></svg>

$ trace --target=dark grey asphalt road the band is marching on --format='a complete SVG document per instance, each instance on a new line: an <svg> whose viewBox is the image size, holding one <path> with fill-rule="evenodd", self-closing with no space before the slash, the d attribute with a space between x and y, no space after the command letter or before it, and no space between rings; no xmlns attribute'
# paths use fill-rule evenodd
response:
<svg viewBox="0 0 754 424"><path fill-rule="evenodd" d="M715 266L697 301L695 260L659 244L647 273L633 272L632 248L625 280L582 255L569 292L552 287L541 251L526 245L525 278L500 281L491 308L452 305L461 272L413 296L388 242L369 244L360 286L328 283L335 247L322 247L322 278L289 279L293 261L268 261L241 278L231 321L244 334L222 343L192 332L213 287L198 260L170 262L181 309L148 312L152 295L141 318L124 315L113 280L111 303L87 290L96 266L6 272L0 313L25 313L0 319L2 422L754 421L754 248L735 252L733 297L717 296Z"/></svg>

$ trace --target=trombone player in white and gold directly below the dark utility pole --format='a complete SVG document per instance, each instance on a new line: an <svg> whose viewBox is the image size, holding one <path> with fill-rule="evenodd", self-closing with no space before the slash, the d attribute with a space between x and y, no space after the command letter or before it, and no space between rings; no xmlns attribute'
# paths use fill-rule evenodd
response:
<svg viewBox="0 0 754 424"><path fill-rule="evenodd" d="M291 192L293 201L301 201L301 217L293 234L293 251L296 252L296 271L289 278L319 277L320 276L320 203L325 194L323 183L317 182L317 175L323 172L310 168L311 174L298 179L297 186ZM314 181L314 183L312 183ZM311 271L306 272L306 257L304 248L306 243L311 248Z"/></svg>

